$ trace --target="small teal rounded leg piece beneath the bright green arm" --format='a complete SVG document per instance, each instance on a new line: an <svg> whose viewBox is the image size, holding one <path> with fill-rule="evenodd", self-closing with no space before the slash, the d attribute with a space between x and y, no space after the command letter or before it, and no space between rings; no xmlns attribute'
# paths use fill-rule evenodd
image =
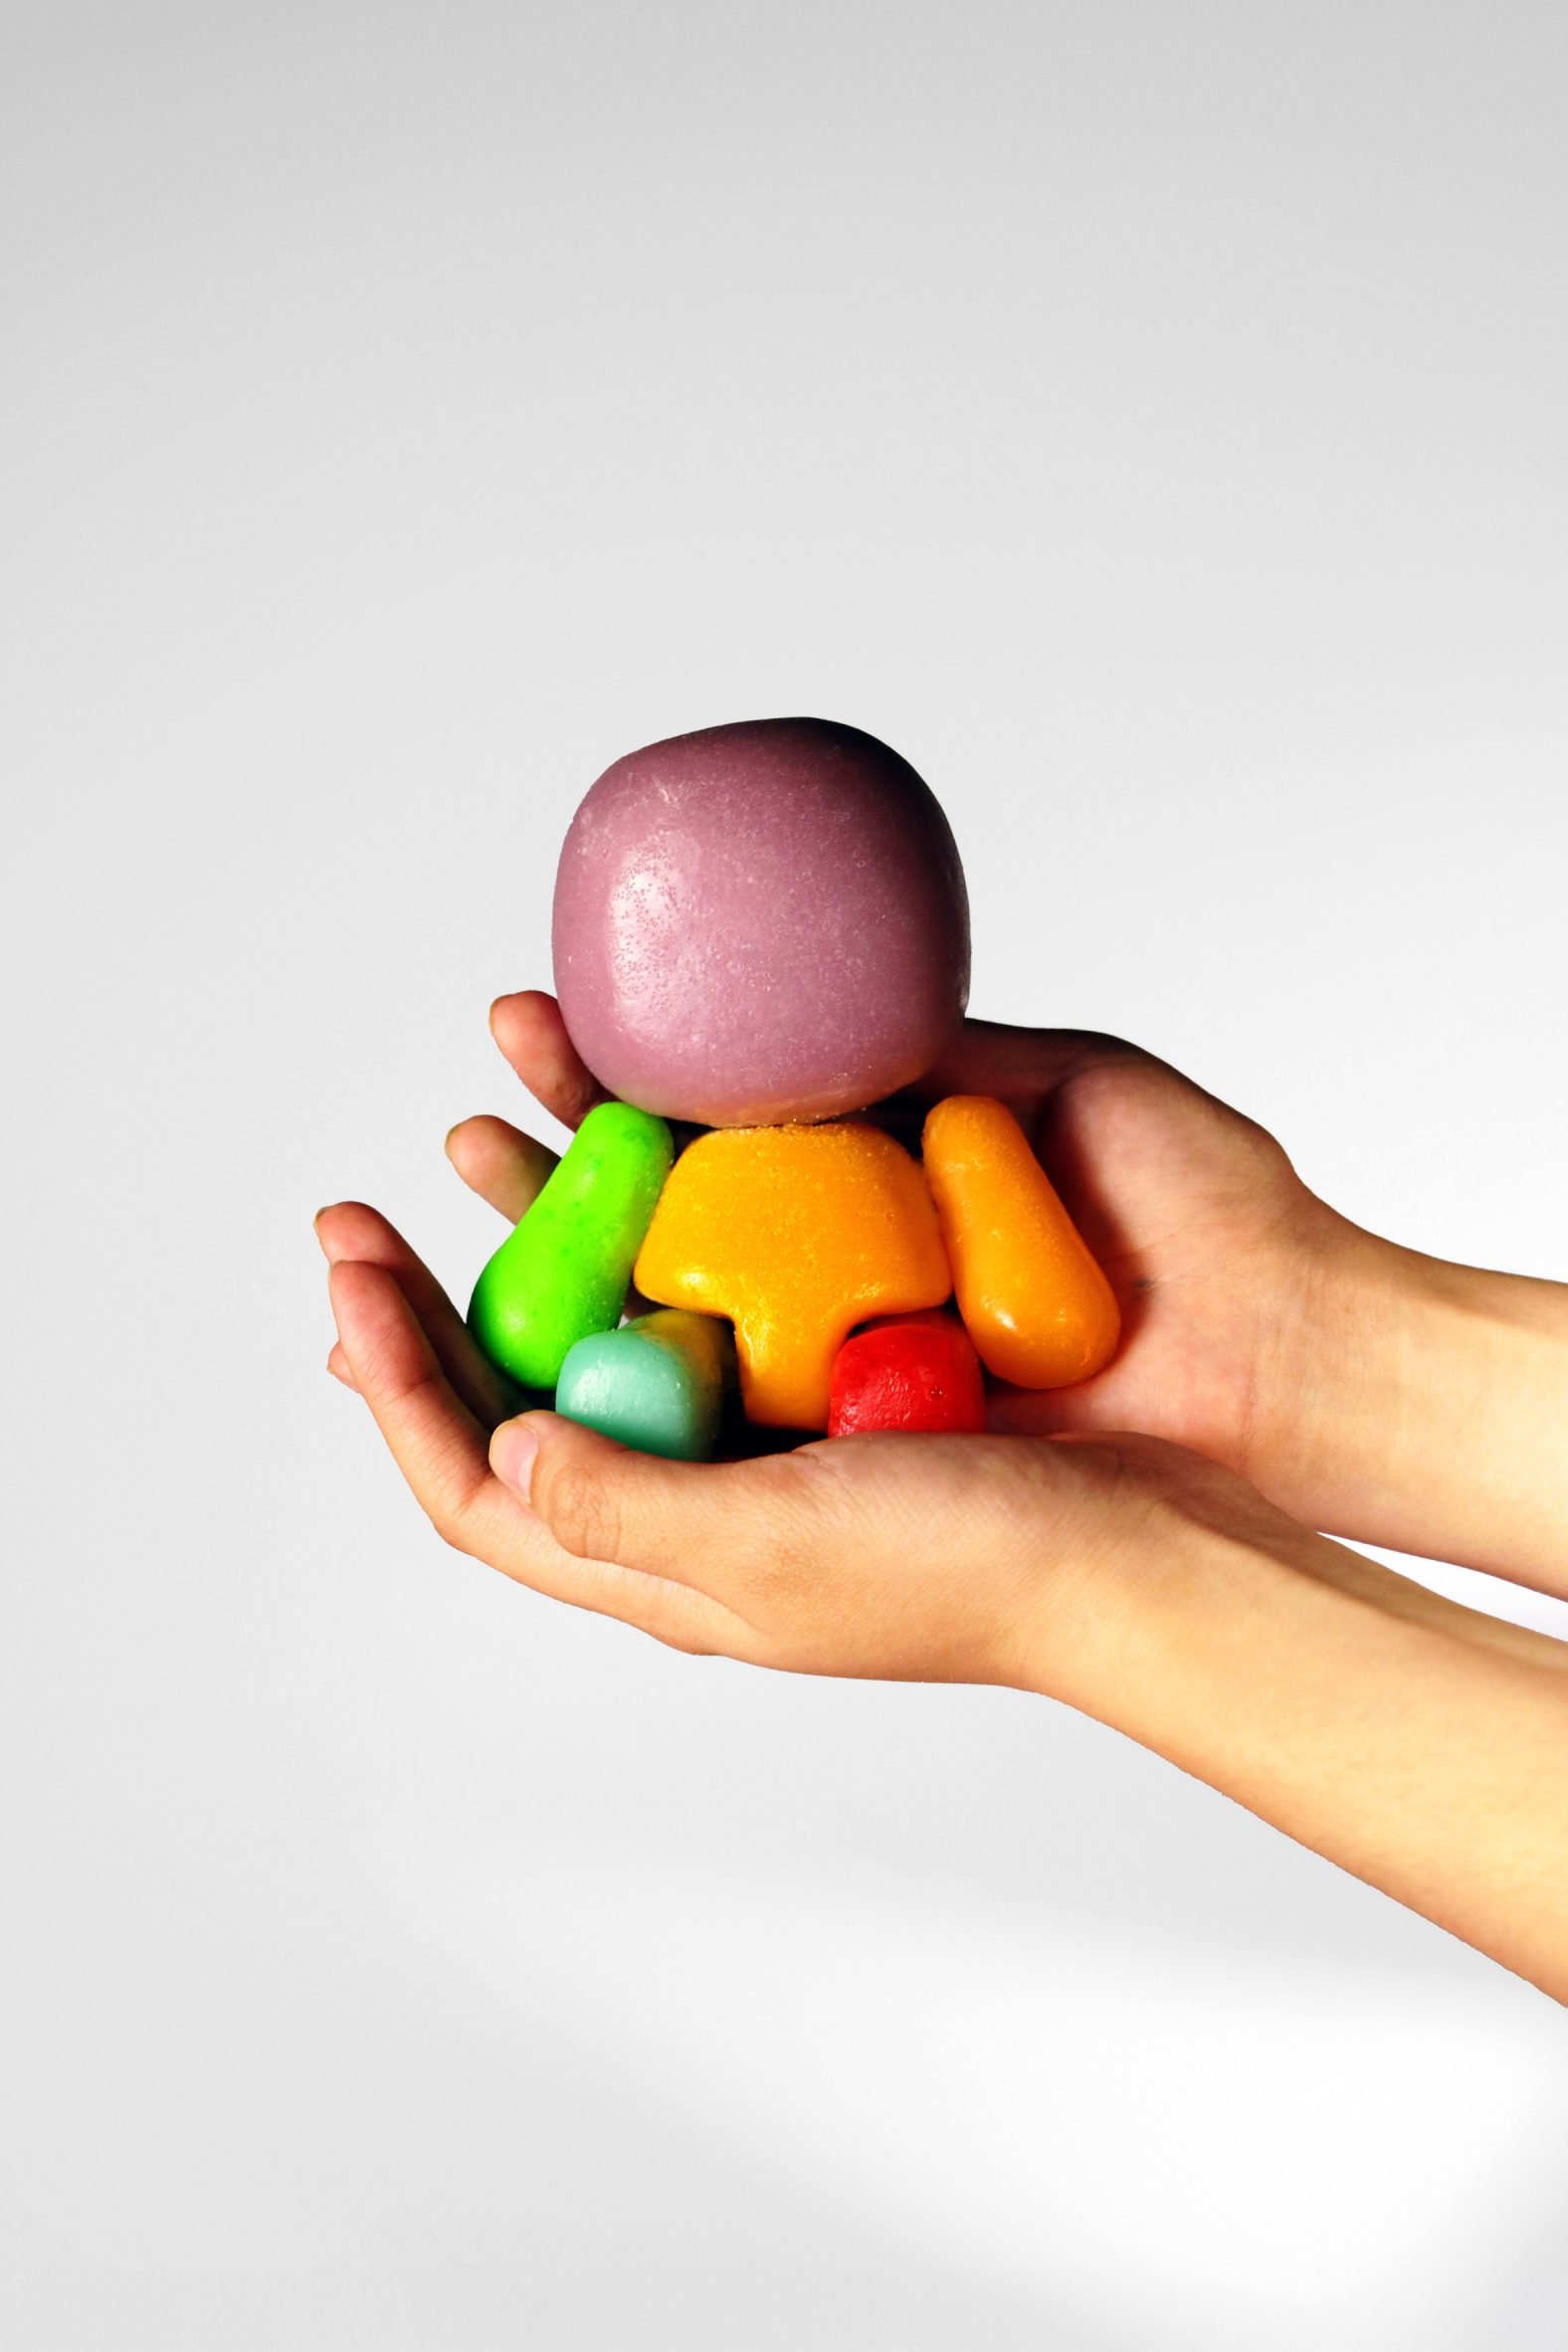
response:
<svg viewBox="0 0 1568 2352"><path fill-rule="evenodd" d="M717 1315L658 1308L581 1338L562 1364L555 1411L639 1454L705 1463L719 1437L736 1341Z"/></svg>

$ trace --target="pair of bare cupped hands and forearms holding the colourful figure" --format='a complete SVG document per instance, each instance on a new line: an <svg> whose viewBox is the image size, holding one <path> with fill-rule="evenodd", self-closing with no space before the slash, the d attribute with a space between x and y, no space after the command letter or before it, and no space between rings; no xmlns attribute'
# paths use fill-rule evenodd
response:
<svg viewBox="0 0 1568 2352"><path fill-rule="evenodd" d="M550 997L491 1025L555 1117L599 1098ZM686 1651L1063 1698L1568 1999L1568 1646L1314 1531L1566 1592L1568 1291L1361 1232L1119 1040L969 1023L926 1087L1018 1110L1126 1312L1100 1378L999 1392L992 1437L684 1468L515 1416L362 1204L317 1218L331 1369L520 1583ZM447 1150L510 1218L552 1164L491 1117Z"/></svg>

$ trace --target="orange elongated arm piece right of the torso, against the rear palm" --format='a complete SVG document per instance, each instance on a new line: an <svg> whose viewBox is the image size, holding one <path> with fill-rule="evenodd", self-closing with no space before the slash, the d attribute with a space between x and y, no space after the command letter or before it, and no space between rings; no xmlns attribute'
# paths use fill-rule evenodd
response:
<svg viewBox="0 0 1568 2352"><path fill-rule="evenodd" d="M950 1094L926 1117L924 1155L985 1369L1016 1388L1067 1388L1110 1364L1117 1296L1006 1103Z"/></svg>

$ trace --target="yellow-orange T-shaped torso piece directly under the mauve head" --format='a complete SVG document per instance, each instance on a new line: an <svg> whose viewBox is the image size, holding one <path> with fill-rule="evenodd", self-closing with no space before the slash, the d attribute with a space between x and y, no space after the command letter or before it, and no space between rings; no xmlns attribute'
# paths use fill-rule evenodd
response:
<svg viewBox="0 0 1568 2352"><path fill-rule="evenodd" d="M931 1195L879 1127L722 1127L675 1162L637 1289L729 1315L750 1421L827 1428L832 1359L858 1322L952 1291Z"/></svg>

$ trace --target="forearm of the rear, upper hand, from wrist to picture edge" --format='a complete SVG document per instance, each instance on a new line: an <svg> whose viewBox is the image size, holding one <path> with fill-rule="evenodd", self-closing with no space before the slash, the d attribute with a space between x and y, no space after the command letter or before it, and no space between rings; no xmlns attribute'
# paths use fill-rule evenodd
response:
<svg viewBox="0 0 1568 2352"><path fill-rule="evenodd" d="M1269 1498L1568 1595L1568 1287L1342 1228L1302 1322L1312 1376L1255 1470Z"/></svg>

